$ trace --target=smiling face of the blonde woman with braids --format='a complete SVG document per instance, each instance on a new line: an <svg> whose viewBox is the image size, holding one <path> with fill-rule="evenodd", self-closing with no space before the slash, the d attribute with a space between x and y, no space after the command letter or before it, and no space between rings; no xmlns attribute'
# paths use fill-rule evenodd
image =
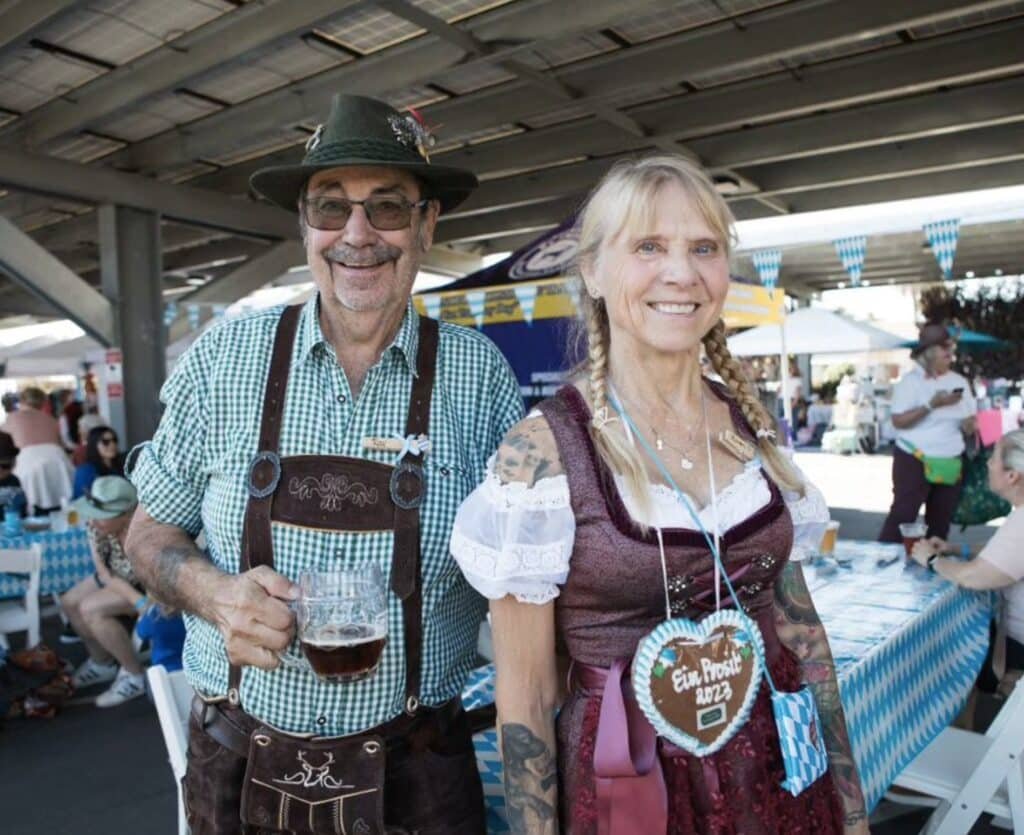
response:
<svg viewBox="0 0 1024 835"><path fill-rule="evenodd" d="M612 343L641 354L692 351L729 291L725 242L678 183L666 183L653 208L652 227L604 242L584 278L604 299Z"/></svg>

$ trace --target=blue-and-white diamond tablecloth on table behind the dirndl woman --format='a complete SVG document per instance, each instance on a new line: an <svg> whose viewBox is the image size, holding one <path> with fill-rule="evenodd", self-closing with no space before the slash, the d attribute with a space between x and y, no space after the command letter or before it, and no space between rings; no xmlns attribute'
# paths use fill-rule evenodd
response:
<svg viewBox="0 0 1024 835"><path fill-rule="evenodd" d="M988 646L991 600L903 558L901 545L840 541L805 563L836 659L868 808L964 707ZM494 701L494 668L474 670L463 702ZM508 832L494 730L474 740L489 833Z"/></svg>

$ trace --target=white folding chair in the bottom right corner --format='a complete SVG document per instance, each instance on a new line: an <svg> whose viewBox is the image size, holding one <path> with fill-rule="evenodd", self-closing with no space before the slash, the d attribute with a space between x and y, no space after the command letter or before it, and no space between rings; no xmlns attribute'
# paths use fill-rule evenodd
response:
<svg viewBox="0 0 1024 835"><path fill-rule="evenodd" d="M938 799L923 833L963 835L982 812L1009 819L1015 832L1024 832L1022 727L1024 683L1019 683L984 735L947 727L903 769L894 786ZM886 797L903 800L893 793Z"/></svg>

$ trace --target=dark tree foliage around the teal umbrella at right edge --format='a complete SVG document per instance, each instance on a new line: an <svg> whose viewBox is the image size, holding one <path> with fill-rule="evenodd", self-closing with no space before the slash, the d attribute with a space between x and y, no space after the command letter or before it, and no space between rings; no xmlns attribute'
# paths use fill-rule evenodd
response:
<svg viewBox="0 0 1024 835"><path fill-rule="evenodd" d="M1010 343L997 350L962 344L955 368L966 377L1024 378L1024 284L1019 280L987 286L931 287L921 294L921 309L929 322L945 322Z"/></svg>

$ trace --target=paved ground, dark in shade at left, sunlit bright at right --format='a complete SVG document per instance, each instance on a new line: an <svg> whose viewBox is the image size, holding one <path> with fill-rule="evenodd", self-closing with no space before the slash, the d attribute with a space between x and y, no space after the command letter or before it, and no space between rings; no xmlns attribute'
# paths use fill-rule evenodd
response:
<svg viewBox="0 0 1024 835"><path fill-rule="evenodd" d="M873 539L890 499L889 459L798 454L823 490L840 535ZM972 542L991 531L969 531ZM56 645L57 625L45 624ZM72 661L81 651L67 654ZM51 721L11 721L0 730L0 832L4 835L173 835L176 796L156 712L145 700L99 710L68 708ZM883 805L876 835L910 835L927 811L897 819ZM971 835L997 833L980 824Z"/></svg>

